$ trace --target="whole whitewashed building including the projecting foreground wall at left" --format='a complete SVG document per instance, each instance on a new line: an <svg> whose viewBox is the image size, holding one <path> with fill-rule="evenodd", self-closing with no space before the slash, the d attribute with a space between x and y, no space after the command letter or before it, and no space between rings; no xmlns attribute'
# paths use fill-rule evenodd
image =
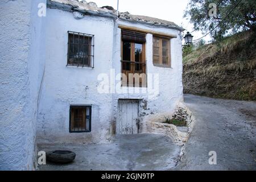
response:
<svg viewBox="0 0 256 182"><path fill-rule="evenodd" d="M0 169L35 169L36 143L151 132L183 100L175 23L85 1L0 8Z"/></svg>

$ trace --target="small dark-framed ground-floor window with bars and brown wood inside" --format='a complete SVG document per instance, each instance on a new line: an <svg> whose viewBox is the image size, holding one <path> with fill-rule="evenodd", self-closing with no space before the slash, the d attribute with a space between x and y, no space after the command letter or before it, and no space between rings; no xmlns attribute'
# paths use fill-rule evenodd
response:
<svg viewBox="0 0 256 182"><path fill-rule="evenodd" d="M92 106L70 106L69 132L91 131Z"/></svg>

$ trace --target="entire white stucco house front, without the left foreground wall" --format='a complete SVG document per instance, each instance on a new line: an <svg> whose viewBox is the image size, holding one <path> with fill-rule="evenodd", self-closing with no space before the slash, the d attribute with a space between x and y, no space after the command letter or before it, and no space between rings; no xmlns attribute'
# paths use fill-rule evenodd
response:
<svg viewBox="0 0 256 182"><path fill-rule="evenodd" d="M152 35L146 36L147 73L159 74L159 94L101 94L98 75L109 77L121 72L121 30L110 18L85 16L75 19L72 13L47 9L46 72L39 102L38 143L98 143L112 138L119 98L141 99L141 118L156 113L172 113L183 99L182 55L179 31L152 28L142 24L118 21L119 24L175 34L171 39L172 68L152 64ZM67 67L68 33L76 31L95 35L94 68ZM109 80L110 81L110 80ZM117 84L118 80L110 81ZM92 105L92 132L69 133L69 105ZM147 105L147 107L146 107ZM146 121L143 121L145 123ZM144 124L143 124L144 125ZM143 132L147 132L143 129Z"/></svg>

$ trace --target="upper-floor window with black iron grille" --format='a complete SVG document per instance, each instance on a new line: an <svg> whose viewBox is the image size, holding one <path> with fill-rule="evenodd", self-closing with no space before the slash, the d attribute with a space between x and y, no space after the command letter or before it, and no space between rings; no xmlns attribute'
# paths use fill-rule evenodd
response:
<svg viewBox="0 0 256 182"><path fill-rule="evenodd" d="M94 67L94 35L68 31L68 64Z"/></svg>

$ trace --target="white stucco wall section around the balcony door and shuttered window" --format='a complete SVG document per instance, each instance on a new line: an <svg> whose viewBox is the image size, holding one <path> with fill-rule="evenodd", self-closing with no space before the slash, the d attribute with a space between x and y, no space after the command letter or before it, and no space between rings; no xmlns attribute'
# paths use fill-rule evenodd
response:
<svg viewBox="0 0 256 182"><path fill-rule="evenodd" d="M118 99L122 98L130 98L130 99L140 99L141 101L141 131L143 133L147 133L146 124L147 118L145 116L151 114L158 115L170 115L173 113L178 102L183 100L183 85L182 85L182 49L181 49L181 39L179 36L179 31L172 30L170 28L152 28L150 26L146 26L144 24L139 23L130 23L119 21L118 24L122 24L130 27L138 27L146 30L162 32L165 34L177 35L177 38L171 39L171 67L162 68L155 67L153 65L152 60L152 44L153 44L153 35L146 35L146 64L147 64L147 75L158 75L159 76L159 92L156 92L156 88L150 90L147 88L147 94L115 94L113 99L114 105L114 120L117 117L117 108L118 108ZM117 30L117 39L115 39L116 50L121 47L121 29ZM115 64L113 64L113 68L116 71L119 71L121 68L121 54L119 51L114 52L114 60ZM118 81L117 81L118 82ZM150 79L147 80L148 85L157 86L154 83L154 78L152 77L152 81ZM127 89L127 88L124 88ZM133 89L133 88L130 88ZM144 89L144 88L142 88ZM148 90L149 89L149 90ZM152 92L154 91L154 92ZM131 92L133 93L133 92Z"/></svg>

